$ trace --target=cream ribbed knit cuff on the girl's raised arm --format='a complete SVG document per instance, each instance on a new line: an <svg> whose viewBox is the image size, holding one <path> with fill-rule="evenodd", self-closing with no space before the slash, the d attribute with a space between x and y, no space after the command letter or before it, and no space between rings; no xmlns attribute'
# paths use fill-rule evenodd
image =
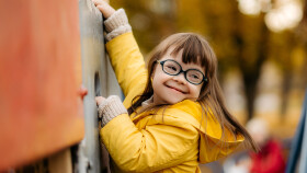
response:
<svg viewBox="0 0 307 173"><path fill-rule="evenodd" d="M129 25L128 18L124 9L118 9L107 20L105 20L104 26L107 33L105 36L106 41L111 41L124 33L132 32L132 26Z"/></svg>

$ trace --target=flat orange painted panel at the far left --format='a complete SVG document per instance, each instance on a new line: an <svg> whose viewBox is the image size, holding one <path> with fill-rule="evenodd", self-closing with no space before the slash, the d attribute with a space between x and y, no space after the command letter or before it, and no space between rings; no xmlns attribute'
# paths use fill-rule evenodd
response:
<svg viewBox="0 0 307 173"><path fill-rule="evenodd" d="M0 1L0 171L83 138L76 0Z"/></svg>

